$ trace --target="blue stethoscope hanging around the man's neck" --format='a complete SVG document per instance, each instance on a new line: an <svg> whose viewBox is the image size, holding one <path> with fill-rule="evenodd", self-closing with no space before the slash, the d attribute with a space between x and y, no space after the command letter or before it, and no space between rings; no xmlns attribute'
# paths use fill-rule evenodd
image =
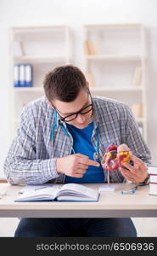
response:
<svg viewBox="0 0 157 256"><path fill-rule="evenodd" d="M59 124L58 121L58 113L56 111L54 111L54 124L51 127L51 139L54 140L54 130L57 126L60 126L62 131L64 131L64 134L66 137L70 137L68 131L66 130L66 128L64 127L63 124ZM72 148L72 152L73 154L75 154L75 150L74 148ZM98 161L99 160L99 129L97 127L96 129L96 152L94 152L93 154L93 160Z"/></svg>

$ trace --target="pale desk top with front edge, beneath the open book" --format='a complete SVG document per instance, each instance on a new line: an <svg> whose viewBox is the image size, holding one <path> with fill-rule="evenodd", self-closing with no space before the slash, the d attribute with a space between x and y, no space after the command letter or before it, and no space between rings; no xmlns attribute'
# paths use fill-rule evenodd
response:
<svg viewBox="0 0 157 256"><path fill-rule="evenodd" d="M86 184L98 189L104 184ZM107 186L107 184L105 184ZM149 185L139 187L134 195L121 195L132 184L118 183L114 192L101 192L98 202L14 202L21 186L0 183L6 191L0 199L0 217L27 218L107 218L157 217L157 196L149 195ZM112 186L112 184L110 185Z"/></svg>

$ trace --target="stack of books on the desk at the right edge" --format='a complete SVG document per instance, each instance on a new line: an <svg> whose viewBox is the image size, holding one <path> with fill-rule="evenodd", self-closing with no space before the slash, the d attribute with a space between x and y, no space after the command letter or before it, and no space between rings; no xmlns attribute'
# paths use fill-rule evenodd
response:
<svg viewBox="0 0 157 256"><path fill-rule="evenodd" d="M149 195L157 195L157 166L149 166Z"/></svg>

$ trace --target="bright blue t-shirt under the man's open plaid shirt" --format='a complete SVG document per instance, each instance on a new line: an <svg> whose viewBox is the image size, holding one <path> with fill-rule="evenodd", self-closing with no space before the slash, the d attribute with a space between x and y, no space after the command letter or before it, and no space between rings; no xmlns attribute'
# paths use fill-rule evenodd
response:
<svg viewBox="0 0 157 256"><path fill-rule="evenodd" d="M90 123L84 129L78 129L69 124L67 124L67 128L73 137L75 153L85 154L90 160L93 160L93 154L96 152L91 142L93 123ZM102 166L89 166L83 177L65 176L64 183L104 183L104 170Z"/></svg>

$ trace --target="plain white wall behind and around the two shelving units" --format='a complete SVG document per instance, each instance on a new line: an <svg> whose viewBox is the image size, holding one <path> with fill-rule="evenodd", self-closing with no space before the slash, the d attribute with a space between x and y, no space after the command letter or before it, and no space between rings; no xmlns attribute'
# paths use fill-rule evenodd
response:
<svg viewBox="0 0 157 256"><path fill-rule="evenodd" d="M157 164L157 1L155 0L0 0L0 173L8 152L8 28L66 24L74 33L75 64L81 67L81 26L93 23L143 23L149 44L149 148ZM77 49L77 50L76 50Z"/></svg>

